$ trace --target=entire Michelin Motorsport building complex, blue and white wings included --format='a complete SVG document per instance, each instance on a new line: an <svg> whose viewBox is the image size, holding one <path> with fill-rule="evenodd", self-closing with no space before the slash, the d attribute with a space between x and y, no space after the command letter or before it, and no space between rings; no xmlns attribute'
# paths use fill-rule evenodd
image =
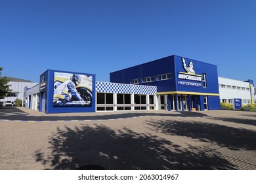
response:
<svg viewBox="0 0 256 183"><path fill-rule="evenodd" d="M254 92L253 80L230 82L217 65L173 55L112 72L110 82L49 69L26 88L24 106L46 113L219 110L221 101L255 103Z"/></svg>

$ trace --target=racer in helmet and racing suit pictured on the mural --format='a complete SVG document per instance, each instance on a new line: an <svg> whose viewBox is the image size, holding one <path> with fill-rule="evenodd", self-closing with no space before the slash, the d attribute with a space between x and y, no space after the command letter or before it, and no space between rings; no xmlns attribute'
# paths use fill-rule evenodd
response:
<svg viewBox="0 0 256 183"><path fill-rule="evenodd" d="M54 90L53 103L55 106L83 105L83 99L77 92L76 86L81 82L81 77L73 74Z"/></svg>

